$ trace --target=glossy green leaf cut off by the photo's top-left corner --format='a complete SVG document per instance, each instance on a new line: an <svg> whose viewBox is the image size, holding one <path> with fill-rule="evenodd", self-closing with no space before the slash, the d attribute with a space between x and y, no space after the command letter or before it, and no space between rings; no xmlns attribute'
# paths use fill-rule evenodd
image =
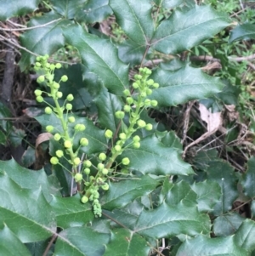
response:
<svg viewBox="0 0 255 256"><path fill-rule="evenodd" d="M0 2L0 20L7 20L14 16L22 16L37 9L40 0L2 0Z"/></svg>

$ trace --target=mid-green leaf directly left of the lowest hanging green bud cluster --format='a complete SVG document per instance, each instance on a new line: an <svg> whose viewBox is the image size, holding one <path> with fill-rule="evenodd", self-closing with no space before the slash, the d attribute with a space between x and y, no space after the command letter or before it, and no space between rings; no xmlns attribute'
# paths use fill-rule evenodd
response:
<svg viewBox="0 0 255 256"><path fill-rule="evenodd" d="M80 201L80 196L53 196L50 205L55 213L57 225L62 229L71 226L82 226L94 219L90 204L83 204Z"/></svg>

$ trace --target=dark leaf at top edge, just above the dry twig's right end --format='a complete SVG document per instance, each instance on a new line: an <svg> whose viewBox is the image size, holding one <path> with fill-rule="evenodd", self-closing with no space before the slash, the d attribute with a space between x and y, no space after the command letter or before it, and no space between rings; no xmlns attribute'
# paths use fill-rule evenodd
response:
<svg viewBox="0 0 255 256"><path fill-rule="evenodd" d="M53 9L65 19L73 19L86 2L87 0L51 0Z"/></svg>

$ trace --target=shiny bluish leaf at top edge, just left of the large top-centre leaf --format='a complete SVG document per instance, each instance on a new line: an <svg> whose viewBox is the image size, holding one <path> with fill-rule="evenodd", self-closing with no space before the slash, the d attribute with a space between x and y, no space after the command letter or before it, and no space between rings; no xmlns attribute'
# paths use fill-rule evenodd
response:
<svg viewBox="0 0 255 256"><path fill-rule="evenodd" d="M76 15L76 20L87 23L100 22L112 14L108 0L88 0L82 10Z"/></svg>

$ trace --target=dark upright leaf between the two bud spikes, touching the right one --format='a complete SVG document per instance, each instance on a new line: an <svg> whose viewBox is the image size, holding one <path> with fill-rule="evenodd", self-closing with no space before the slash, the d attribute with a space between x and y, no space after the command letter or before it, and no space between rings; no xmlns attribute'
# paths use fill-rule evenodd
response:
<svg viewBox="0 0 255 256"><path fill-rule="evenodd" d="M122 99L115 94L108 93L107 89L103 88L95 97L94 102L99 111L99 124L101 127L111 129L115 133L116 127L120 122L115 117L115 112L122 110Z"/></svg>

